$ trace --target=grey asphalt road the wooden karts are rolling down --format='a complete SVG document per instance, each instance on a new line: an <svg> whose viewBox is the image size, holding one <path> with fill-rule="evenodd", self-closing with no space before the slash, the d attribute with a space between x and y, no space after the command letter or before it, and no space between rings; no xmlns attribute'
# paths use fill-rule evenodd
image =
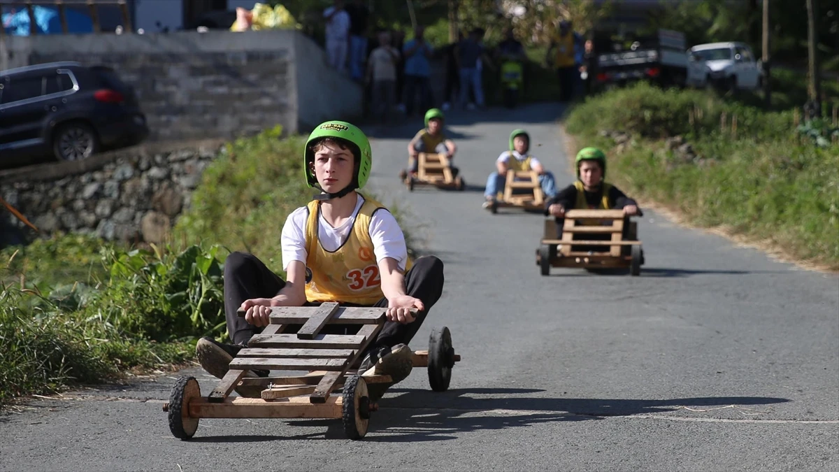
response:
<svg viewBox="0 0 839 472"><path fill-rule="evenodd" d="M409 211L446 289L412 348L448 326L462 355L445 393L423 369L362 441L338 420L201 420L172 437L177 375L34 399L0 417L3 470L836 470L839 278L680 228L647 211L640 277L534 262L539 215L482 210L513 128L570 183L560 108L450 113L463 192L409 193L417 123L371 132L374 191ZM206 394L215 383L199 370Z"/></svg>

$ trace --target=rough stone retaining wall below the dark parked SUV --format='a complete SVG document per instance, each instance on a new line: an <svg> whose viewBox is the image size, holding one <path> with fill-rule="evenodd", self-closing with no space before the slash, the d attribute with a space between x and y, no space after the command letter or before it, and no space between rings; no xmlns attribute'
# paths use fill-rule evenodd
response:
<svg viewBox="0 0 839 472"><path fill-rule="evenodd" d="M190 205L195 186L218 146L148 154L126 153L101 168L44 181L0 185L0 196L16 207L41 236L56 232L96 234L107 240L160 243ZM13 226L23 223L0 214Z"/></svg>

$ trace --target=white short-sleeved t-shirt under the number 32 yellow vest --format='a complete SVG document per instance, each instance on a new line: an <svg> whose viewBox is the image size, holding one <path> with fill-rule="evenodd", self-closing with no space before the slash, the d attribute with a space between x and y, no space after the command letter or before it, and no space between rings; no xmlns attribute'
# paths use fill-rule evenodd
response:
<svg viewBox="0 0 839 472"><path fill-rule="evenodd" d="M352 217L347 218L338 228L332 228L323 215L318 218L317 237L320 246L327 251L336 251L341 244L347 240L356 221L358 211L364 204L364 198L358 196L356 208L352 211ZM289 270L289 264L294 260L306 263L306 221L309 219L309 208L300 207L294 210L286 218L283 226L283 233L280 244L283 248L283 269ZM393 214L385 209L373 213L370 221L370 239L373 240L373 254L376 254L376 262L386 257L397 261L400 270L405 270L408 262L408 248L405 246L405 235Z"/></svg>

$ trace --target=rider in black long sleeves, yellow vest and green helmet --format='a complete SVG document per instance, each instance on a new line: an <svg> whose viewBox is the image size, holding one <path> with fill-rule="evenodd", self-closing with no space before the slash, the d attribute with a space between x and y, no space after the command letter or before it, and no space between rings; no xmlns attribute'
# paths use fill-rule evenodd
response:
<svg viewBox="0 0 839 472"><path fill-rule="evenodd" d="M583 148L576 155L577 180L545 202L545 216L555 217L556 237L562 237L565 211L570 209L623 209L627 217L642 216L638 203L617 186L605 181L606 155L597 148ZM628 228L628 225L624 226ZM607 235L609 236L609 235ZM596 238L597 235L591 235ZM611 237L611 236L609 236ZM587 238L587 236L586 236Z"/></svg>

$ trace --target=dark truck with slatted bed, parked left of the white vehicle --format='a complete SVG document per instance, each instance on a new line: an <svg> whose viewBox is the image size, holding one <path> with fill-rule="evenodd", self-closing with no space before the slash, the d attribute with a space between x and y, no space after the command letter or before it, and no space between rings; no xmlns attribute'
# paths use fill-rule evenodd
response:
<svg viewBox="0 0 839 472"><path fill-rule="evenodd" d="M685 34L659 29L656 34L596 41L597 89L650 81L662 87L684 87L688 71Z"/></svg>

